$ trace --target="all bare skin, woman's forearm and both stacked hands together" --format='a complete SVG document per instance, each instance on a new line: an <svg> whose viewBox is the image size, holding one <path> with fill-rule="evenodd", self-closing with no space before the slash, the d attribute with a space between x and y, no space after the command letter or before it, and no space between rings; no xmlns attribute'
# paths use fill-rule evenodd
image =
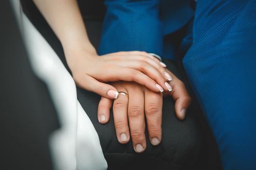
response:
<svg viewBox="0 0 256 170"><path fill-rule="evenodd" d="M184 119L190 97L184 84L157 58L144 51L98 56L88 39L76 0L33 1L59 38L76 84L101 96L100 123L108 122L115 99L113 112L120 143L127 143L131 136L134 150L143 152L145 119L151 143L160 143L163 95L173 97L177 118ZM118 91L128 93L129 98L118 95Z"/></svg>

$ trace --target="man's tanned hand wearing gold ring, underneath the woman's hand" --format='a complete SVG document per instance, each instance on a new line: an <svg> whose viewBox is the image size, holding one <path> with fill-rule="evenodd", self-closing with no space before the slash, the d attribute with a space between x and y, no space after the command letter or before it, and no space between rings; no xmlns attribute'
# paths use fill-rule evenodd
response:
<svg viewBox="0 0 256 170"><path fill-rule="evenodd" d="M167 70L168 71L168 70ZM190 105L190 97L184 84L170 71L172 81L169 84L173 90L164 95L172 95L175 111L179 119L184 119L185 111ZM129 97L119 94L113 103L113 114L116 134L120 143L127 143L132 137L133 147L137 153L146 149L145 117L149 139L152 145L161 141L162 123L162 93L156 93L145 86L134 82L115 82L112 84L120 92L129 94ZM101 97L98 105L98 121L107 123L113 100ZM128 123L129 120L129 123Z"/></svg>

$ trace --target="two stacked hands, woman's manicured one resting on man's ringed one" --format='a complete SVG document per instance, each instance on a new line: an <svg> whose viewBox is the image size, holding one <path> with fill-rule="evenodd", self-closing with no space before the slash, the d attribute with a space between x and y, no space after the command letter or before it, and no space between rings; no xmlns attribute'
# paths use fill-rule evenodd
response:
<svg viewBox="0 0 256 170"><path fill-rule="evenodd" d="M152 145L161 141L162 97L172 96L178 119L184 119L190 97L184 84L156 57L142 51L102 56L74 55L68 65L77 85L101 96L98 121L108 122L113 104L117 139L131 138L135 152L146 149L145 119ZM108 82L108 83L106 83ZM110 83L109 83L110 82ZM127 95L128 94L128 95Z"/></svg>

